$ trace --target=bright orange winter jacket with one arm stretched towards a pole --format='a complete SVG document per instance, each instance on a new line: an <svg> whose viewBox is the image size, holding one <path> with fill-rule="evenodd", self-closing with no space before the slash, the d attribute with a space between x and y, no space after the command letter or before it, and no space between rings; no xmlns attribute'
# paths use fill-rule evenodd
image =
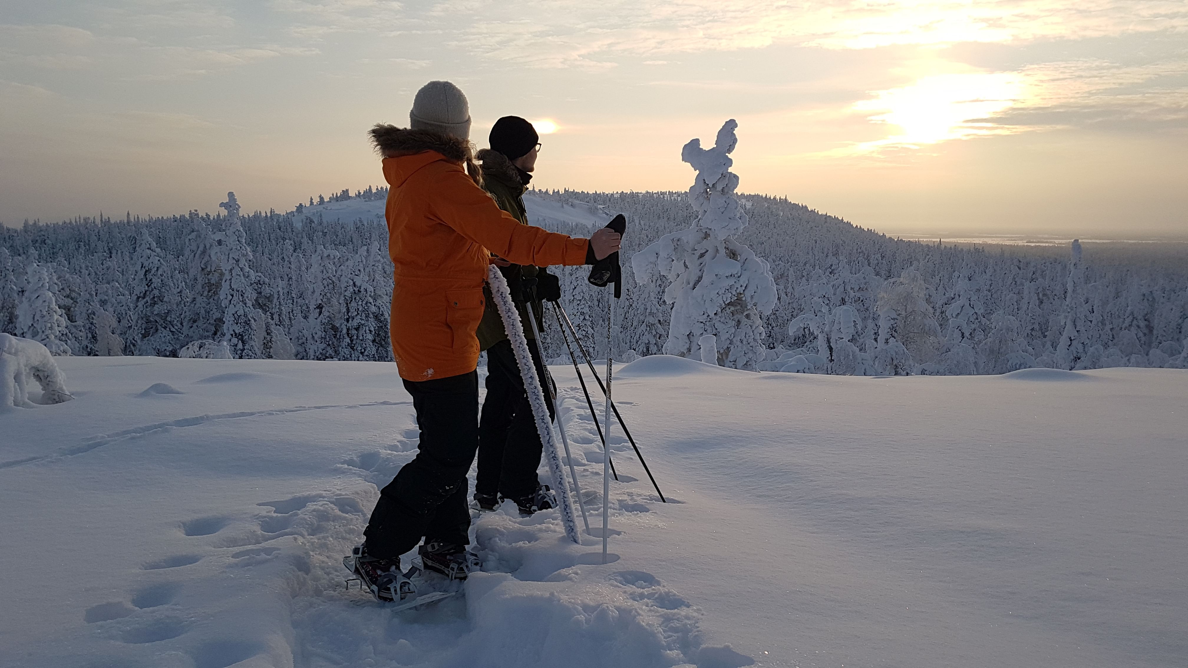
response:
<svg viewBox="0 0 1188 668"><path fill-rule="evenodd" d="M441 152L384 158L384 178L400 378L447 378L478 366L491 253L537 266L586 263L589 240L522 225Z"/></svg>

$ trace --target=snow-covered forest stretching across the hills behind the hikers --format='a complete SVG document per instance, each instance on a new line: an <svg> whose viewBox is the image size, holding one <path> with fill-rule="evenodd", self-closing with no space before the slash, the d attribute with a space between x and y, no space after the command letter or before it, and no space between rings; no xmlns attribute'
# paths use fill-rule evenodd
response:
<svg viewBox="0 0 1188 668"><path fill-rule="evenodd" d="M390 360L391 264L374 215L385 194L343 190L249 215L230 195L217 216L0 228L0 330L55 354ZM555 215L535 220L574 235L588 235L599 215L625 213L625 265L699 216L687 193L532 195L530 216L548 206ZM1076 244L1051 259L903 241L786 198L740 201L750 225L737 240L770 265L777 292L763 316L760 370L1188 367L1183 272L1094 266ZM374 212L328 219L331 203ZM589 286L582 267L558 272L562 303L587 345L605 354L607 291ZM614 342L627 360L663 352L671 314L665 285L642 285L632 273L624 271ZM564 345L548 334L556 322L545 324L545 354L560 358Z"/></svg>

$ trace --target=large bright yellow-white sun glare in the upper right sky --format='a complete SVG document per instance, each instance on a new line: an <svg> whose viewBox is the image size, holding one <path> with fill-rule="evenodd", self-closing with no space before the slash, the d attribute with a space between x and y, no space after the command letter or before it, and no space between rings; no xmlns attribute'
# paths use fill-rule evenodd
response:
<svg viewBox="0 0 1188 668"><path fill-rule="evenodd" d="M1022 78L1012 73L944 74L921 78L903 88L880 90L853 108L876 112L868 116L871 121L903 130L901 134L873 144L936 144L1009 132L985 119L1019 102L1023 89Z"/></svg>

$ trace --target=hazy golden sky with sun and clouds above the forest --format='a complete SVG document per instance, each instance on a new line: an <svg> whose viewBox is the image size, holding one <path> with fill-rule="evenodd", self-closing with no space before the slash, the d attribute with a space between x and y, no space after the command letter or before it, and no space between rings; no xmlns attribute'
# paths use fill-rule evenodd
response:
<svg viewBox="0 0 1188 668"><path fill-rule="evenodd" d="M0 222L379 185L442 78L541 188L684 190L733 118L740 191L879 232L1188 237L1184 0L0 0Z"/></svg>

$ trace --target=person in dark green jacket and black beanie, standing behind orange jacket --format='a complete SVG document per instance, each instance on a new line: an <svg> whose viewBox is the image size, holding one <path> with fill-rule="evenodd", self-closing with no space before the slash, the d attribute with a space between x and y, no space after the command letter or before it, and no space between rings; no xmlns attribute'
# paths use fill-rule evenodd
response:
<svg viewBox="0 0 1188 668"><path fill-rule="evenodd" d="M524 225L527 225L524 191L536 169L541 150L538 141L532 124L519 116L504 116L491 128L491 149L478 153L482 160L482 187L499 208ZM543 328L542 298L560 297L560 282L544 267L497 264L501 265L500 270L508 278L513 294L522 278L537 281L537 298L519 303L518 308L537 377L542 386L549 387L551 379L542 364L541 349L527 319L535 317L537 327ZM487 305L478 334L479 347L487 353L487 397L479 420L479 470L474 500L480 510L494 510L501 499L511 499L522 513L531 515L555 506L556 496L537 478L543 448L541 436L503 320L489 292L486 297ZM550 402L549 416L552 415Z"/></svg>

